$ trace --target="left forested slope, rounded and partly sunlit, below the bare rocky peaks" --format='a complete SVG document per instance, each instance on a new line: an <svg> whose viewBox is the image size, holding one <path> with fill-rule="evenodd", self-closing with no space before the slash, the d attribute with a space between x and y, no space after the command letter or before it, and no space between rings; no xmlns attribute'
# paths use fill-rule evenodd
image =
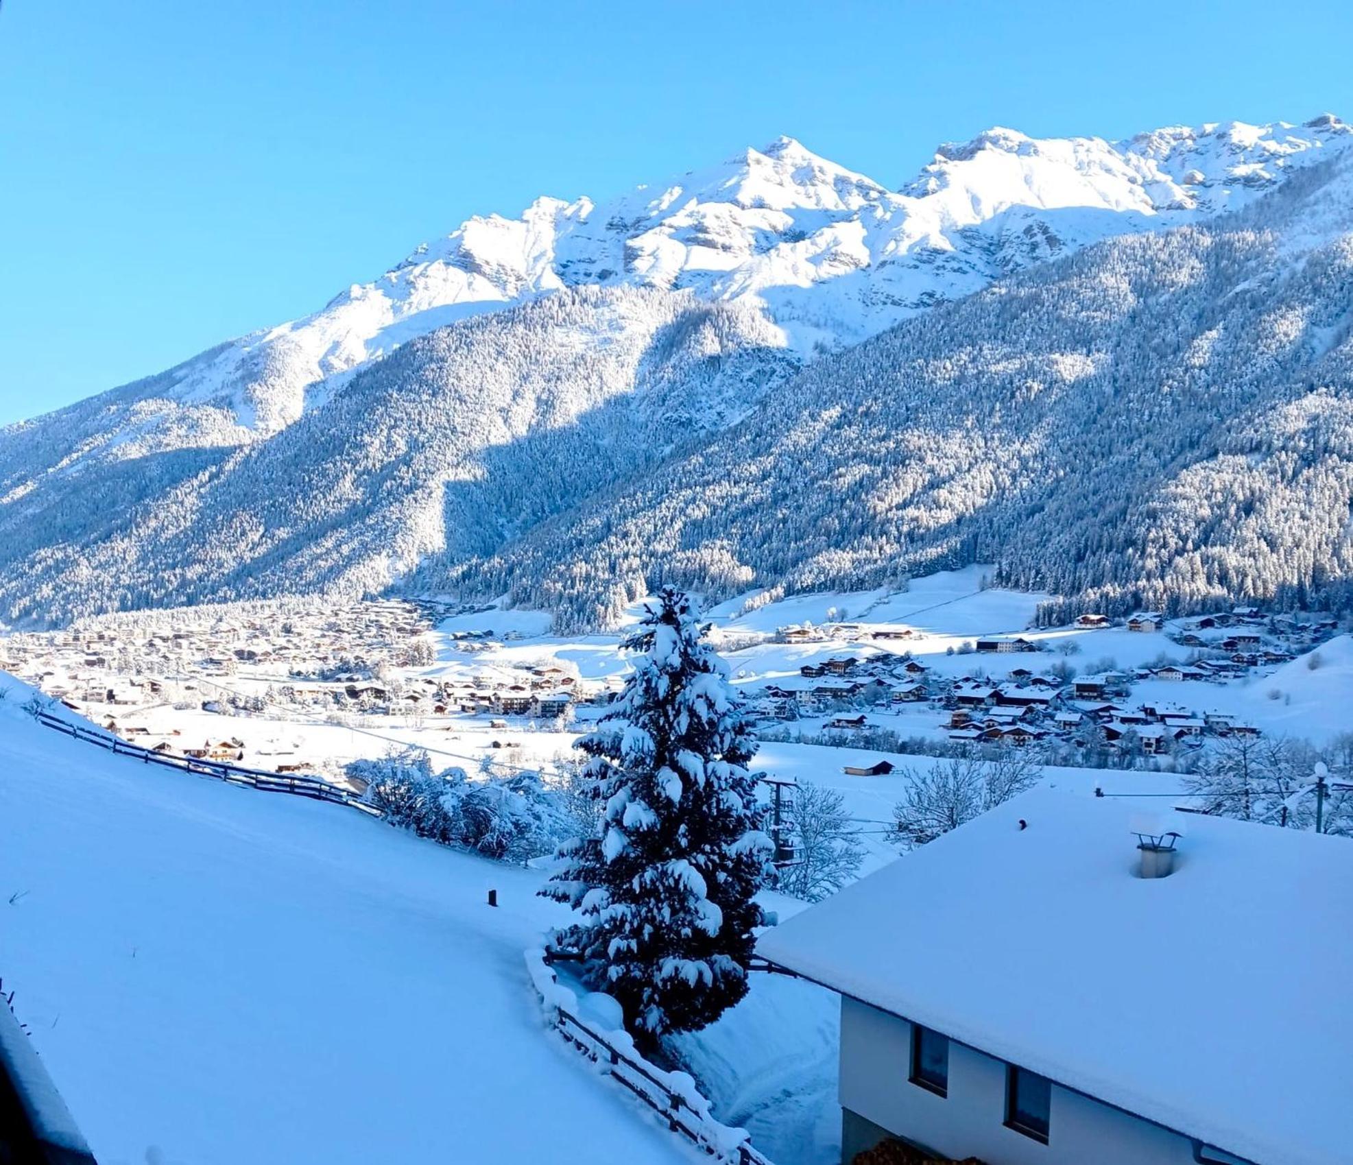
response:
<svg viewBox="0 0 1353 1165"><path fill-rule="evenodd" d="M764 319L579 288L445 327L267 441L60 468L0 506L11 620L379 591L725 424L796 367Z"/></svg>

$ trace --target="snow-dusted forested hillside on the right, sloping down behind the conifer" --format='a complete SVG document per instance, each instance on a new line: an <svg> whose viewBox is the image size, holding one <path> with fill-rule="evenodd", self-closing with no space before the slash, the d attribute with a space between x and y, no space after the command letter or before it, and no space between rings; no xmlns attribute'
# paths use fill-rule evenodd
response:
<svg viewBox="0 0 1353 1165"><path fill-rule="evenodd" d="M1350 173L1322 168L1215 225L1034 269L817 361L444 582L582 624L663 580L724 597L971 562L1109 610L1342 602L1349 230Z"/></svg>

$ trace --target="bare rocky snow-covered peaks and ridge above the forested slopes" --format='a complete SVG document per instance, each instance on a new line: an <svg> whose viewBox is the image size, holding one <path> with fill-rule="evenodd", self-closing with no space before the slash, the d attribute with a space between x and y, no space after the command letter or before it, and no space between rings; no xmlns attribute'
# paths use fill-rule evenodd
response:
<svg viewBox="0 0 1353 1165"><path fill-rule="evenodd" d="M590 284L750 299L785 345L809 355L1101 238L1235 208L1350 142L1353 127L1330 115L1123 142L993 129L942 146L890 191L779 138L609 202L541 198L518 218L472 218L319 311L107 403L127 413L124 440L137 449L234 444L284 428L409 340ZM180 406L172 421L160 402Z"/></svg>

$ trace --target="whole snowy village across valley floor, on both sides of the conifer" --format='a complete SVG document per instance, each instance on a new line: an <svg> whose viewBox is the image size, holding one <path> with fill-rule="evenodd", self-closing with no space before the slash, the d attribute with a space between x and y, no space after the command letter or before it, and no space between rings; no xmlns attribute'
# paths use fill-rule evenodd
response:
<svg viewBox="0 0 1353 1165"><path fill-rule="evenodd" d="M1188 769L1210 741L1288 735L1298 716L1310 731L1312 704L1337 702L1321 671L1322 649L1341 659L1335 618L1242 606L1035 628L1039 599L990 589L973 567L904 590L741 597L708 617L759 733L812 746L785 767L815 778L965 747ZM618 644L498 606L291 599L11 633L0 667L145 748L360 793L352 762L403 747L548 770L620 690Z"/></svg>

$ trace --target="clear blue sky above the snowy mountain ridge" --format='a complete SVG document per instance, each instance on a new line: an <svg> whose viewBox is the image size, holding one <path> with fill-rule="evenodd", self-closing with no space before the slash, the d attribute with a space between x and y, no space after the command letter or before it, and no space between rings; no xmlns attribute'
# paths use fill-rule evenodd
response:
<svg viewBox="0 0 1353 1165"><path fill-rule="evenodd" d="M900 185L990 124L1353 119L1350 9L5 0L0 424L782 133Z"/></svg>

